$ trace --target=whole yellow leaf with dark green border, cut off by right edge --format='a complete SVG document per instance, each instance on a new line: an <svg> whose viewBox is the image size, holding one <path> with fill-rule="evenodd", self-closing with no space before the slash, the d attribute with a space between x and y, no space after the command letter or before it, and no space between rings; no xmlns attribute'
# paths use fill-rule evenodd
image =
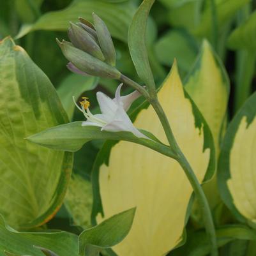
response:
<svg viewBox="0 0 256 256"><path fill-rule="evenodd" d="M256 93L229 124L218 164L220 195L241 222L256 227Z"/></svg>

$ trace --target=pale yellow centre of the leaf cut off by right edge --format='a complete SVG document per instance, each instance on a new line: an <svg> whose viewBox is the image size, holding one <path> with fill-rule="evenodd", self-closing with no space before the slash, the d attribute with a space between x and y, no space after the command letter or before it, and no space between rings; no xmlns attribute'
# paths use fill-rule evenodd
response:
<svg viewBox="0 0 256 256"><path fill-rule="evenodd" d="M256 118L250 125L241 119L230 151L230 179L227 181L238 211L256 223Z"/></svg>

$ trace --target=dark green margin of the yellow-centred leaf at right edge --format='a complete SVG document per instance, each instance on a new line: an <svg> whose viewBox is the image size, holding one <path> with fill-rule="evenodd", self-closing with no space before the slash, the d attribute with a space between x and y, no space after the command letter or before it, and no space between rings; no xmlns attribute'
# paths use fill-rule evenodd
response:
<svg viewBox="0 0 256 256"><path fill-rule="evenodd" d="M229 192L229 188L227 186L227 180L230 179L230 149L232 149L234 138L236 137L237 129L239 128L239 124L241 123L241 119L246 117L247 126L252 123L253 119L256 116L256 92L246 100L245 104L239 112L237 112L236 116L232 119L231 123L227 128L227 132L223 139L223 144L220 151L220 158L218 161L218 188L220 191L220 196L222 197L223 202L225 202L226 206L230 209L230 211L234 214L234 216L243 223L248 223L252 227L255 227L255 223L247 220L239 211L236 209L234 205L234 200L232 195Z"/></svg>

